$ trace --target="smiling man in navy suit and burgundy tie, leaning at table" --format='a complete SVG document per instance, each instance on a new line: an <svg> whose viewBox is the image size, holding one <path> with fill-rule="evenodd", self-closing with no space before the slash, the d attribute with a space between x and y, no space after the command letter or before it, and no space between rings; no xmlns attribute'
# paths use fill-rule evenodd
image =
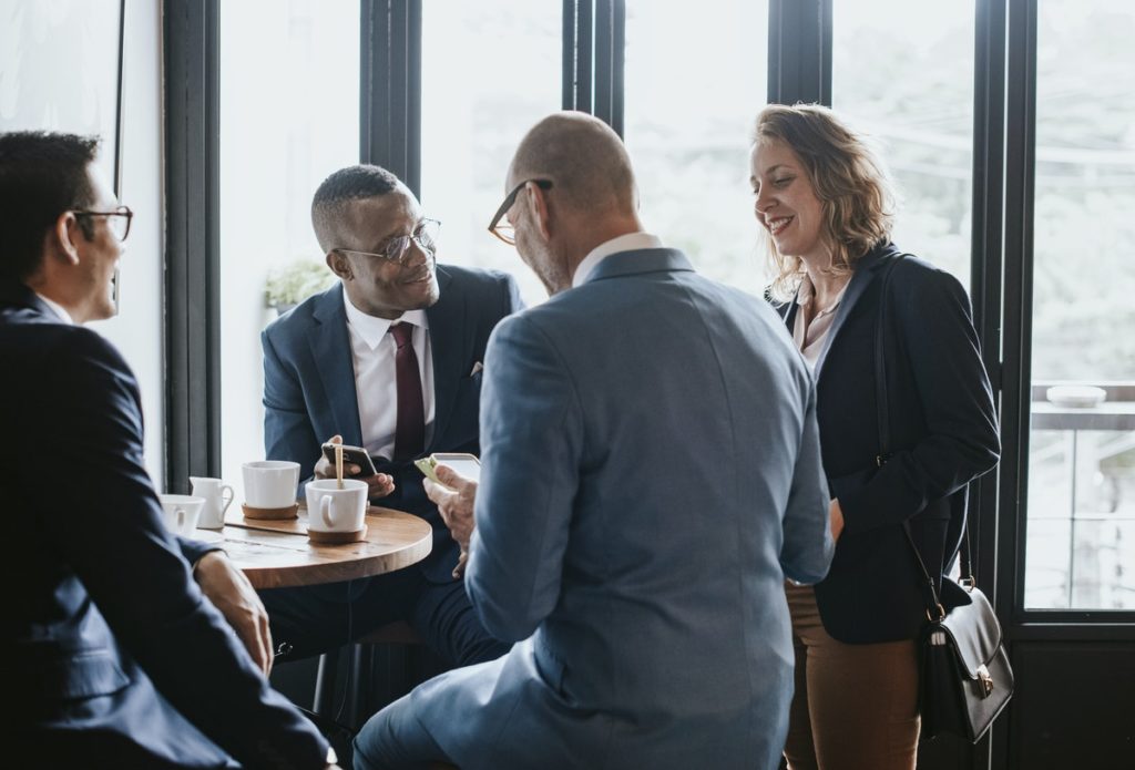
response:
<svg viewBox="0 0 1135 770"><path fill-rule="evenodd" d="M497 658L507 645L485 631L454 577L460 549L412 460L479 454L481 362L489 332L522 306L515 281L438 265L437 223L377 166L329 176L311 215L339 284L263 332L267 456L300 463L303 479L327 477L325 441L363 447L378 471L365 477L371 499L429 521L434 550L418 567L368 581L263 591L274 636L302 658L405 619L449 665ZM407 370L398 359L411 352ZM409 392L398 382L406 374Z"/></svg>

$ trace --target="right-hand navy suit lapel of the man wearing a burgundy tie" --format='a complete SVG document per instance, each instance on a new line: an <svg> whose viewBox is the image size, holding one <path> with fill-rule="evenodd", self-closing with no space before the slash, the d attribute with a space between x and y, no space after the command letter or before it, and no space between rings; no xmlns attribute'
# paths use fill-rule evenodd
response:
<svg viewBox="0 0 1135 770"><path fill-rule="evenodd" d="M434 359L434 435L430 438L430 451L445 435L453 404L457 397L457 386L462 378L469 374L461 371L462 363L469 357L465 355L465 349L471 333L464 323L465 295L447 289L452 280L449 273L438 268L437 282L440 296L431 307L426 308L430 355Z"/></svg>

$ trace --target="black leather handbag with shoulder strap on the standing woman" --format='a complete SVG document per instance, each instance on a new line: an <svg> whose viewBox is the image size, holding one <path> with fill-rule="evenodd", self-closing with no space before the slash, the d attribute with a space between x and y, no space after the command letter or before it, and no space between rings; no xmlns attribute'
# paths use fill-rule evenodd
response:
<svg viewBox="0 0 1135 770"><path fill-rule="evenodd" d="M886 362L883 333L886 328L886 290L891 271L906 256L900 254L882 277L878 325L875 330L875 388L878 399L878 447L876 465L890 456L890 422L886 400ZM931 504L934 505L934 504ZM1001 643L1001 624L985 594L977 590L969 551L969 522L961 547L961 574L957 583L926 568L909 524L903 524L907 542L925 579L926 618L923 632L918 702L922 711L920 741L950 734L977 743L1012 696L1012 668ZM945 607L949 607L947 611Z"/></svg>

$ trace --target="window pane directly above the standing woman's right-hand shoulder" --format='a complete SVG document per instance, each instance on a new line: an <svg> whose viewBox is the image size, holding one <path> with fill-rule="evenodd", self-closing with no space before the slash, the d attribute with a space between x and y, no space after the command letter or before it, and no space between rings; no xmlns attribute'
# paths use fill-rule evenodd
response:
<svg viewBox="0 0 1135 770"><path fill-rule="evenodd" d="M891 170L896 245L968 288L974 3L835 0L832 24L832 103Z"/></svg>

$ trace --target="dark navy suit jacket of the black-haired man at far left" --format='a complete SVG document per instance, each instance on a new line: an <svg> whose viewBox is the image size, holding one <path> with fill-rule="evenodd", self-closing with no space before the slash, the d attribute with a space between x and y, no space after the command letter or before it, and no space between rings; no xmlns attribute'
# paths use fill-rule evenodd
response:
<svg viewBox="0 0 1135 770"><path fill-rule="evenodd" d="M99 335L0 282L5 752L43 767L321 768L193 582L142 462L137 383ZM11 742L15 741L15 746Z"/></svg>

